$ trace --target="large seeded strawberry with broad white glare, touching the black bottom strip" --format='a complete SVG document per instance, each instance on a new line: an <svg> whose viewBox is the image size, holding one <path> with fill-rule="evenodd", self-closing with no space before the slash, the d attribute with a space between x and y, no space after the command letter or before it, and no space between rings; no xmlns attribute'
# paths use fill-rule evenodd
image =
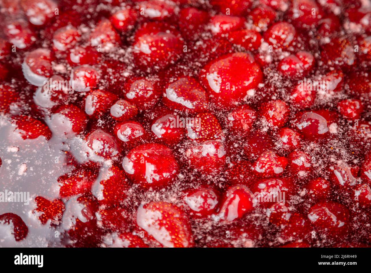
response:
<svg viewBox="0 0 371 273"><path fill-rule="evenodd" d="M151 202L139 206L137 224L164 247L193 247L188 217L173 204Z"/></svg>

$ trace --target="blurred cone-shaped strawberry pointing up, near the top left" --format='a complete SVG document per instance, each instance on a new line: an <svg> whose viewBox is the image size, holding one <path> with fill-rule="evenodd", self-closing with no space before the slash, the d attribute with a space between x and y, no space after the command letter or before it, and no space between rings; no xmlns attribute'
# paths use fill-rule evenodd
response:
<svg viewBox="0 0 371 273"><path fill-rule="evenodd" d="M120 37L108 19L101 20L89 37L91 46L109 52L120 43Z"/></svg>

